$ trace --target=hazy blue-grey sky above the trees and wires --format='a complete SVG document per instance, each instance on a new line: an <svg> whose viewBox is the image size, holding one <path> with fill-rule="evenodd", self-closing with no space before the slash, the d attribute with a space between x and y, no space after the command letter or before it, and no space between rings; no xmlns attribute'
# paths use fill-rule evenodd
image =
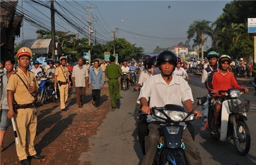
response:
<svg viewBox="0 0 256 165"><path fill-rule="evenodd" d="M49 0L40 2L50 5ZM111 41L117 28L118 38L142 46L144 53L151 53L157 45L168 48L181 41L185 43L186 32L194 20L214 22L222 14L226 3L230 1L56 1L55 8L84 31L74 29L59 15L55 15L55 29L88 37L88 7L92 7L92 40L96 34L100 43ZM21 5L21 0L18 5ZM23 1L23 9L25 16L36 19L42 23L42 27L51 27L50 10L46 7ZM25 21L24 39L36 39L35 31L38 28ZM22 41L22 33L20 35L16 43ZM192 41L190 44L192 46ZM211 47L210 38L205 46Z"/></svg>

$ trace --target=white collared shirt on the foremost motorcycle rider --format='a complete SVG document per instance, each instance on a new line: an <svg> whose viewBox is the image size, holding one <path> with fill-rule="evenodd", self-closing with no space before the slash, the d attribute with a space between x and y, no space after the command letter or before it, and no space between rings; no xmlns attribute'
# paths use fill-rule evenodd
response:
<svg viewBox="0 0 256 165"><path fill-rule="evenodd" d="M191 99L193 95L191 87L181 77L172 76L172 81L167 84L161 74L153 75L147 79L141 88L138 100L141 98L150 98L150 107L164 107L166 104L176 104L183 107L185 100Z"/></svg>

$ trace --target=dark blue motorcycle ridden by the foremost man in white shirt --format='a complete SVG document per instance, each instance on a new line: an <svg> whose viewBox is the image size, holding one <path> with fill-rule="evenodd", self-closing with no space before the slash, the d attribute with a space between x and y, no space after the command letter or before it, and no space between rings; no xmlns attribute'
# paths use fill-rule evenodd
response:
<svg viewBox="0 0 256 165"><path fill-rule="evenodd" d="M206 101L205 98L199 99L197 107ZM194 109L191 112L185 112L183 107L174 104L151 108L151 117L154 119L151 122L161 126L160 142L157 146L154 164L188 164L182 138L185 127L183 123L194 120Z"/></svg>

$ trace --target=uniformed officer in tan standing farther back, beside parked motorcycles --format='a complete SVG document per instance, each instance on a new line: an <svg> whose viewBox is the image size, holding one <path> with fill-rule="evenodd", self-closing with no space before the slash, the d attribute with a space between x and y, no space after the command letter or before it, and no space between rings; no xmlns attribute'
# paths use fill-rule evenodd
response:
<svg viewBox="0 0 256 165"><path fill-rule="evenodd" d="M68 88L71 87L69 82L69 72L68 68L65 67L67 63L67 58L65 56L60 57L60 66L56 67L55 70L55 78L54 78L54 87L59 86L60 91L60 110L67 111L67 107L65 105L68 100Z"/></svg>

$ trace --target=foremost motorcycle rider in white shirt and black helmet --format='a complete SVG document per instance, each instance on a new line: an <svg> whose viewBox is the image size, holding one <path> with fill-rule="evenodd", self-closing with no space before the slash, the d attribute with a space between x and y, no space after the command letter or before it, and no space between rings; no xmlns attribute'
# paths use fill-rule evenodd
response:
<svg viewBox="0 0 256 165"><path fill-rule="evenodd" d="M193 96L188 83L181 77L173 77L172 72L177 65L177 57L174 53L164 50L156 58L156 62L162 71L161 74L153 75L144 83L138 100L142 104L142 112L151 113L152 107L164 107L166 104L176 104L187 108L187 111L193 109ZM150 103L148 106L148 100ZM196 117L200 117L199 111L194 111ZM160 126L154 123L148 125L149 134L145 137L146 154L142 160L142 164L152 164L159 143ZM195 146L195 142L191 137L188 129L183 132L183 142L185 147L185 156L188 164L202 164L199 151Z"/></svg>

